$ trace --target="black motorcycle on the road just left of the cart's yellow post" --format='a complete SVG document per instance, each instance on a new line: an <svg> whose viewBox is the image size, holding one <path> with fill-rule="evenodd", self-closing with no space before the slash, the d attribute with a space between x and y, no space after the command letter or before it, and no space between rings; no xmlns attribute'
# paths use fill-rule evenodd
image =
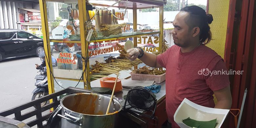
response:
<svg viewBox="0 0 256 128"><path fill-rule="evenodd" d="M35 76L35 86L36 88L32 91L31 100L38 99L40 97L46 96L49 94L48 91L48 81L46 70L39 70L40 74ZM41 107L46 105L47 101L41 103Z"/></svg>

